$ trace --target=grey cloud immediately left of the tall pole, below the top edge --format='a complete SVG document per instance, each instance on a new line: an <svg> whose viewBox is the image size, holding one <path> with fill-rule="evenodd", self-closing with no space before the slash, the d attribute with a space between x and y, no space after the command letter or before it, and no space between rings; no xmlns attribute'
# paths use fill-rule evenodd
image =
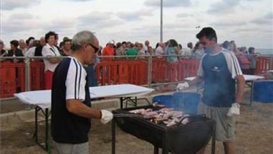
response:
<svg viewBox="0 0 273 154"><path fill-rule="evenodd" d="M150 10L139 10L135 12L118 12L116 14L119 18L127 21L140 20L144 16L153 16Z"/></svg>

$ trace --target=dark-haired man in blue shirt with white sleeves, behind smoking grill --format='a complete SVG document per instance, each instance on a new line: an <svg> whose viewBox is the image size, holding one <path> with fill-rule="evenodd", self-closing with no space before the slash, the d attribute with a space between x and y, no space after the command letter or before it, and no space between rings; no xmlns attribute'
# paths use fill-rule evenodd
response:
<svg viewBox="0 0 273 154"><path fill-rule="evenodd" d="M190 83L181 83L178 87L184 89L189 84L204 82L199 113L216 121L216 140L223 142L226 154L234 154L234 114L239 114L245 80L235 55L217 44L213 28L203 28L196 37L204 44L207 54L200 61L197 78ZM204 153L204 150L205 147L200 153Z"/></svg>

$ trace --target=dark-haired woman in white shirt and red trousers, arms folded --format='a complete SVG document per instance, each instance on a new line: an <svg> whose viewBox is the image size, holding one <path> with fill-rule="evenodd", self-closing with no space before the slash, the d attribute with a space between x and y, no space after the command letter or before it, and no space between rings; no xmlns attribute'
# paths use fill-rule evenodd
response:
<svg viewBox="0 0 273 154"><path fill-rule="evenodd" d="M55 39L55 32L48 32L45 35L47 44L42 49L42 55L47 57L43 59L45 63L45 89L51 89L53 72L61 61L60 58L54 58L60 56L59 50L54 45L56 43Z"/></svg>

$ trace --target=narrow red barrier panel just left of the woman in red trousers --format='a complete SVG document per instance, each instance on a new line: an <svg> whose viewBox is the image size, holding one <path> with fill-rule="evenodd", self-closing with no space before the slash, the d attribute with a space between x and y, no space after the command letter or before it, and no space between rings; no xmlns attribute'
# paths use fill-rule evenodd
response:
<svg viewBox="0 0 273 154"><path fill-rule="evenodd" d="M45 65L41 61L30 62L30 90L44 89Z"/></svg>

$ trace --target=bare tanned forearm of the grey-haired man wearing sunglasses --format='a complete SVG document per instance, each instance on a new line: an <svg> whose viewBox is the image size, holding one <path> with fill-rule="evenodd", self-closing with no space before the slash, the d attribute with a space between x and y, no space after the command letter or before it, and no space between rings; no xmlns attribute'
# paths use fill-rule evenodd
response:
<svg viewBox="0 0 273 154"><path fill-rule="evenodd" d="M67 100L66 108L69 112L82 117L96 119L101 118L101 110L88 107L79 100Z"/></svg>

